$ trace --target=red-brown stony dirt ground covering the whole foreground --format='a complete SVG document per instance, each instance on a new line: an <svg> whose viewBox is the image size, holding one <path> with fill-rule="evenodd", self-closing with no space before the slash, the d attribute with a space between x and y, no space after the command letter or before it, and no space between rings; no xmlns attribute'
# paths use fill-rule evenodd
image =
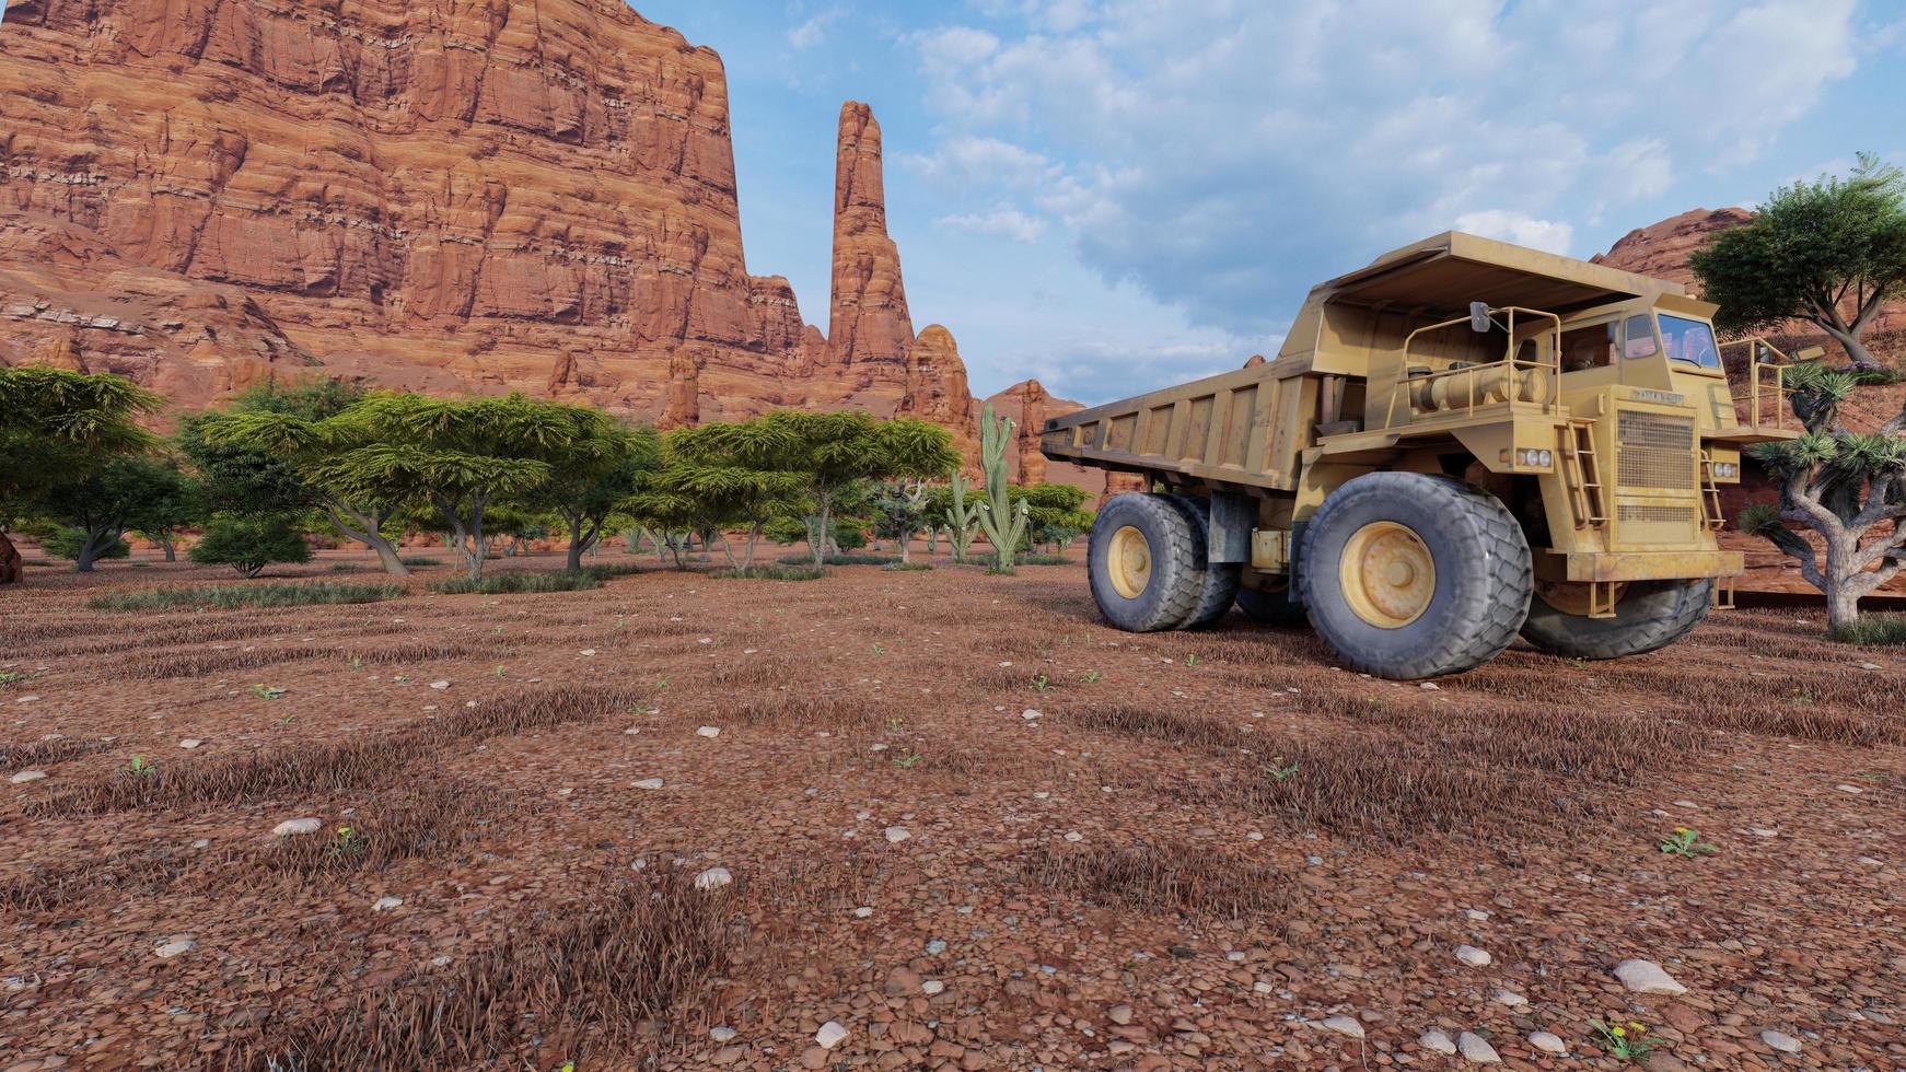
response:
<svg viewBox="0 0 1906 1072"><path fill-rule="evenodd" d="M379 579L345 562L278 573ZM1431 1028L1616 1066L1592 1019L1649 1068L1906 1066L1906 653L1816 611L1431 689L1115 632L1077 566L204 613L88 598L240 581L27 577L0 1068L1449 1066Z"/></svg>

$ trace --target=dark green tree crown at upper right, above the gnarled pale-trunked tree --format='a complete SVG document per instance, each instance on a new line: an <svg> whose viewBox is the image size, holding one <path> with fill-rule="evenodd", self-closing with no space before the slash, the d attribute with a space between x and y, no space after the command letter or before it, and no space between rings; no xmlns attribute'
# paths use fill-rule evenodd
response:
<svg viewBox="0 0 1906 1072"><path fill-rule="evenodd" d="M1855 366L1874 366L1862 335L1906 293L1906 175L1862 152L1847 179L1774 190L1752 221L1723 230L1689 265L1723 331L1807 320Z"/></svg>

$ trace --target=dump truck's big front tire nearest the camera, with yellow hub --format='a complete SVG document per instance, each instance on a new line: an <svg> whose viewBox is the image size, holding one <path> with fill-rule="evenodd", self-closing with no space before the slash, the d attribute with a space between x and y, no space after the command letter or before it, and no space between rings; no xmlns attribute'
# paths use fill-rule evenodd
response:
<svg viewBox="0 0 1906 1072"><path fill-rule="evenodd" d="M1447 476L1372 472L1304 527L1311 625L1380 678L1458 674L1494 659L1529 617L1529 541L1500 499Z"/></svg>

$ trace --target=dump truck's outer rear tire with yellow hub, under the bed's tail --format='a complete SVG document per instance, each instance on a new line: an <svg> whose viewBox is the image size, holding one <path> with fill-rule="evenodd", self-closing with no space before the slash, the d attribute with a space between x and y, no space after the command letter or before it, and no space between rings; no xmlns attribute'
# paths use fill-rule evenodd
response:
<svg viewBox="0 0 1906 1072"><path fill-rule="evenodd" d="M1205 592L1205 548L1178 503L1128 491L1092 520L1086 577L1111 625L1126 632L1178 628Z"/></svg>

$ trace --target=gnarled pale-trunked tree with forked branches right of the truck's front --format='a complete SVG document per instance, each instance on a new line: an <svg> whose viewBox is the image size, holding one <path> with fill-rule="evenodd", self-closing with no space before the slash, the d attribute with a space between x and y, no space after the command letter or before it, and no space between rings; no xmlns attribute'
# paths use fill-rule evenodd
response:
<svg viewBox="0 0 1906 1072"><path fill-rule="evenodd" d="M1786 383L1807 432L1748 447L1782 480L1780 505L1748 506L1738 524L1799 562L1826 594L1828 626L1843 634L1860 598L1906 569L1906 407L1876 434L1849 432L1837 407L1858 385L1855 373L1801 364ZM1824 552L1784 522L1816 531Z"/></svg>

